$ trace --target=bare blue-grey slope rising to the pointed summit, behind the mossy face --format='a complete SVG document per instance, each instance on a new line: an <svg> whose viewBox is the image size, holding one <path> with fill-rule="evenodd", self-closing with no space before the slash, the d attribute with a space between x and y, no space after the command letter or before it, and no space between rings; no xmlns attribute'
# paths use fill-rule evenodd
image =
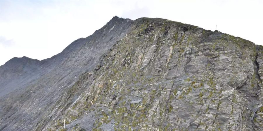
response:
<svg viewBox="0 0 263 131"><path fill-rule="evenodd" d="M41 130L36 127L50 113L48 108L56 104L79 75L96 67L101 55L126 35L131 24L129 19L113 17L93 35L78 39L60 54L41 61L40 68L46 72L0 101L0 130Z"/></svg>

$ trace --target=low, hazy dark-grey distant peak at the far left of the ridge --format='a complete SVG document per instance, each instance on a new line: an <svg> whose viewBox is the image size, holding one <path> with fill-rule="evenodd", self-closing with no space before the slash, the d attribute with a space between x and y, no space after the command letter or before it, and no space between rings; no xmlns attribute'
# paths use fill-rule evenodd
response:
<svg viewBox="0 0 263 131"><path fill-rule="evenodd" d="M20 88L34 80L32 75L40 75L40 61L28 57L13 58L0 67L0 96Z"/></svg>

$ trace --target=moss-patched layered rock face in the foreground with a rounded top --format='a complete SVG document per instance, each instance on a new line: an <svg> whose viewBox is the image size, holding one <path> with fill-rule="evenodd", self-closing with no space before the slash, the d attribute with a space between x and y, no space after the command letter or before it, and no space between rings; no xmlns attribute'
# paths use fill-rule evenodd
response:
<svg viewBox="0 0 263 131"><path fill-rule="evenodd" d="M68 130L262 130L259 50L218 31L138 19L44 129L66 119Z"/></svg>

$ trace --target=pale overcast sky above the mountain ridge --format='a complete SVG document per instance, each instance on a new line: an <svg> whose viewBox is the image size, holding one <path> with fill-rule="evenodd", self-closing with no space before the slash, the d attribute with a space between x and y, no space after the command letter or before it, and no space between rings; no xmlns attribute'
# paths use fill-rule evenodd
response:
<svg viewBox="0 0 263 131"><path fill-rule="evenodd" d="M159 17L263 45L263 0L0 0L0 65L13 57L46 59L113 16Z"/></svg>

